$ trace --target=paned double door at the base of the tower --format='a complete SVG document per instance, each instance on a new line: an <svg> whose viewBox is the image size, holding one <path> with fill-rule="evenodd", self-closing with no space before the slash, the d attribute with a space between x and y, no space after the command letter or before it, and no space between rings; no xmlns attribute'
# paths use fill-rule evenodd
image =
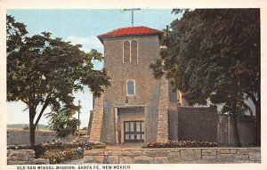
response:
<svg viewBox="0 0 267 170"><path fill-rule="evenodd" d="M125 142L144 142L144 121L125 121Z"/></svg>

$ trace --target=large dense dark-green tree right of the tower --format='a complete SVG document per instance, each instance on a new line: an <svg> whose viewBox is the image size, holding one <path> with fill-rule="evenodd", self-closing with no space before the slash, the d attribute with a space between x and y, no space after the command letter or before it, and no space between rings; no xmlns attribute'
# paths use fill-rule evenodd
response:
<svg viewBox="0 0 267 170"><path fill-rule="evenodd" d="M161 59L151 64L155 77L166 75L190 104L223 104L237 117L255 104L261 143L261 42L259 9L174 10L183 12L164 30Z"/></svg>

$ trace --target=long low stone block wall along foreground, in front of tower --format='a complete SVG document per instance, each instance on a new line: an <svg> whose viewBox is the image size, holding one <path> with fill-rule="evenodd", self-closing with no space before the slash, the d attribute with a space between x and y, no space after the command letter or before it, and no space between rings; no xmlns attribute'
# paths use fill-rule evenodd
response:
<svg viewBox="0 0 267 170"><path fill-rule="evenodd" d="M260 163L260 148L85 150L93 164Z"/></svg>

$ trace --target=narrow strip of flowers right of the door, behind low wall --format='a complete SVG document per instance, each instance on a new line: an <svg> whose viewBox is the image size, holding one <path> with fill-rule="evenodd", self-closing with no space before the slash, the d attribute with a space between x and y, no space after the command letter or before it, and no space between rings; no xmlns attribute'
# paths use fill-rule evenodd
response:
<svg viewBox="0 0 267 170"><path fill-rule="evenodd" d="M142 148L201 148L217 147L216 142L198 142L198 141L166 141L166 142L148 142Z"/></svg>

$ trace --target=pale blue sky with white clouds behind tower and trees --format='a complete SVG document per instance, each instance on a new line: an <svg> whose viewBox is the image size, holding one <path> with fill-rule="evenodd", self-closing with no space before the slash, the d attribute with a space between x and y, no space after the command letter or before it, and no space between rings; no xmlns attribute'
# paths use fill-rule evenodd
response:
<svg viewBox="0 0 267 170"><path fill-rule="evenodd" d="M134 26L146 26L162 30L173 20L181 18L171 13L171 9L150 10L142 9L134 12ZM82 50L90 52L96 49L103 53L103 45L97 38L98 35L117 28L131 27L131 12L123 9L109 10L7 10L16 21L27 26L28 36L50 32L53 37L61 37L73 45L83 45ZM101 69L103 63L94 62L95 69ZM88 87L84 93L75 93L75 103L81 101L81 128L87 127L89 112L93 109L93 96ZM28 124L28 109L21 102L7 103L7 124ZM49 112L47 109L46 112ZM77 117L77 114L75 115ZM48 125L48 119L43 116L39 124Z"/></svg>

